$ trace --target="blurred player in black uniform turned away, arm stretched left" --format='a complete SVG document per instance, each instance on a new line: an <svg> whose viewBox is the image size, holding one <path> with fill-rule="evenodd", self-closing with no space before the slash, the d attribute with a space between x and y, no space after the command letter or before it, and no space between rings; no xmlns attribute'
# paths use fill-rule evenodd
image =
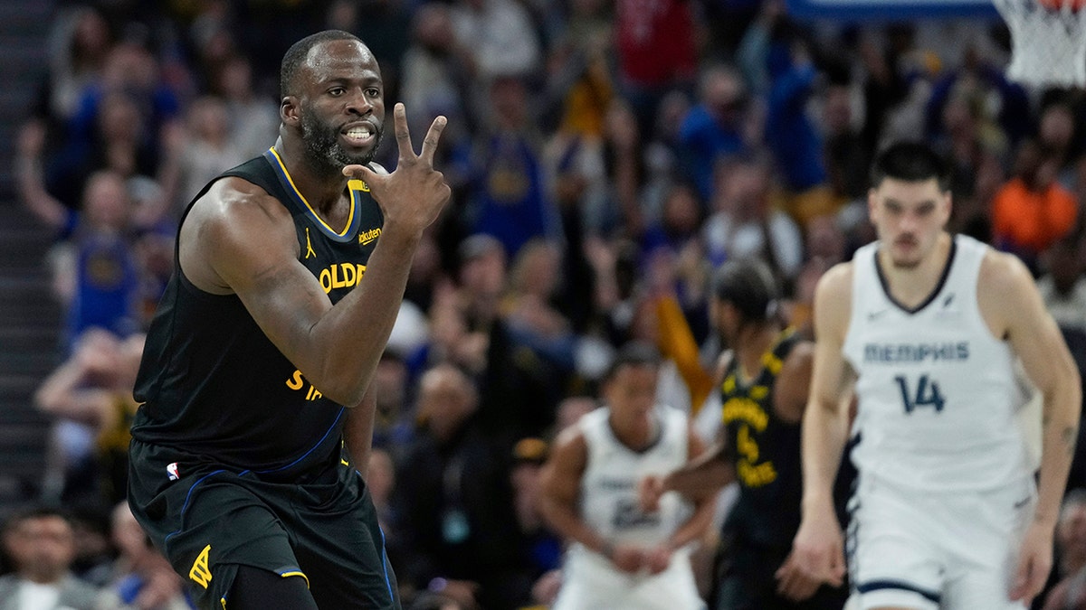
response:
<svg viewBox="0 0 1086 610"><path fill-rule="evenodd" d="M847 597L842 583L822 586L806 579L788 558L799 528L799 422L813 344L780 321L780 289L765 263L724 263L712 290L710 317L729 347L716 384L723 437L674 472L646 478L642 501L653 506L667 491L699 498L737 481L738 497L721 536L712 608L841 610Z"/></svg>

